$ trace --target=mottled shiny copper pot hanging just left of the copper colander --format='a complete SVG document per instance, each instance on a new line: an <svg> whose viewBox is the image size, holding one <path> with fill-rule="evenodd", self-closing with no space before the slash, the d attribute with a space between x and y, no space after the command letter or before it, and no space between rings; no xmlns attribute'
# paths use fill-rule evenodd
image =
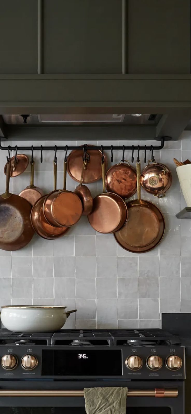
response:
<svg viewBox="0 0 191 414"><path fill-rule="evenodd" d="M136 170L129 161L113 165L106 173L105 185L107 191L129 198L136 193Z"/></svg>

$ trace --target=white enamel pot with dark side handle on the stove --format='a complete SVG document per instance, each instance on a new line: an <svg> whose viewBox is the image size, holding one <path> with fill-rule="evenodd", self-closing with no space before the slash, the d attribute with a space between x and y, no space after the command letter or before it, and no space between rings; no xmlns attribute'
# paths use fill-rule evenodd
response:
<svg viewBox="0 0 191 414"><path fill-rule="evenodd" d="M55 332L70 313L67 306L2 306L1 322L12 332Z"/></svg>

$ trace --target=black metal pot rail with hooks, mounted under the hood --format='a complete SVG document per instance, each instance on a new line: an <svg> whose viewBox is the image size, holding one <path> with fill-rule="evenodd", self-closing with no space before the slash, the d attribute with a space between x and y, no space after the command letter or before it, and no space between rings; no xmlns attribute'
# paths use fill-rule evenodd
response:
<svg viewBox="0 0 191 414"><path fill-rule="evenodd" d="M119 150L121 150L121 151L123 151L123 157L122 157L122 159L123 159L123 161L124 161L124 151L126 151L126 150L130 150L130 151L132 151L132 160L133 160L133 155L134 155L134 151L138 151L138 159L139 159L139 151L141 151L141 150L144 150L144 152L145 152L145 162L146 162L146 151L151 151L151 159L153 159L153 151L156 151L156 150L160 150L160 149L162 149L163 147L164 147L164 144L165 144L165 139L166 140L169 140L169 138L170 137L160 137L160 145L158 145L158 146L153 146L153 145L131 145L131 146L129 146L129 145L123 145L122 147L117 147L117 146L113 146L113 145L101 145L101 146L96 146L96 145L93 145L93 146L91 146L91 148L89 148L88 147L88 144L84 144L83 146L74 146L74 145L70 145L70 146L67 146L67 145L65 145L65 146L57 146L57 145L55 145L55 146L52 146L52 147L48 147L48 146L43 146L43 145L41 145L40 147L36 147L36 146L17 146L17 145L14 145L14 146L10 146L10 145L8 145L8 146L6 146L6 147L4 147L4 146L2 146L2 144L1 144L1 140L0 140L0 149L2 149L3 151L8 151L9 152L9 154L10 154L10 151L16 151L16 153L17 153L17 151L32 151L32 154L33 154L33 151L40 151L41 152L41 162L42 162L42 160L43 160L43 156L42 156L42 154L43 154L43 151L45 150L52 150L52 151L60 151L60 150L64 150L64 151L66 151L66 150L72 150L72 149L83 149L84 148L84 151L86 151L87 152L87 150L88 149L100 149L101 151L104 151L104 150L110 150L111 151L111 160L113 159L113 156L112 156L112 154L113 154L113 151L114 150L117 150L117 151L119 151ZM159 137L158 137L158 140L159 140Z"/></svg>

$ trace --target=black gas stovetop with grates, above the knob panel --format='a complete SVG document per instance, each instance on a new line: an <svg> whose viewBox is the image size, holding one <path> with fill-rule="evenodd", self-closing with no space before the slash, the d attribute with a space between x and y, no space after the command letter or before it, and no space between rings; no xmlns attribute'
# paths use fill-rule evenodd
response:
<svg viewBox="0 0 191 414"><path fill-rule="evenodd" d="M161 329L62 329L48 333L20 333L0 329L0 346L154 346L180 345L177 335Z"/></svg>

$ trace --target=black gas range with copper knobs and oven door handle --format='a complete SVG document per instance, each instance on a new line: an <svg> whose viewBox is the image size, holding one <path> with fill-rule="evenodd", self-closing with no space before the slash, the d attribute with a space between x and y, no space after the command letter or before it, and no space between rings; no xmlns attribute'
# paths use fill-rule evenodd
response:
<svg viewBox="0 0 191 414"><path fill-rule="evenodd" d="M100 386L128 387L128 414L150 414L153 407L184 414L185 349L179 337L160 329L2 329L0 358L0 414L14 413L10 407L84 413L84 388Z"/></svg>

